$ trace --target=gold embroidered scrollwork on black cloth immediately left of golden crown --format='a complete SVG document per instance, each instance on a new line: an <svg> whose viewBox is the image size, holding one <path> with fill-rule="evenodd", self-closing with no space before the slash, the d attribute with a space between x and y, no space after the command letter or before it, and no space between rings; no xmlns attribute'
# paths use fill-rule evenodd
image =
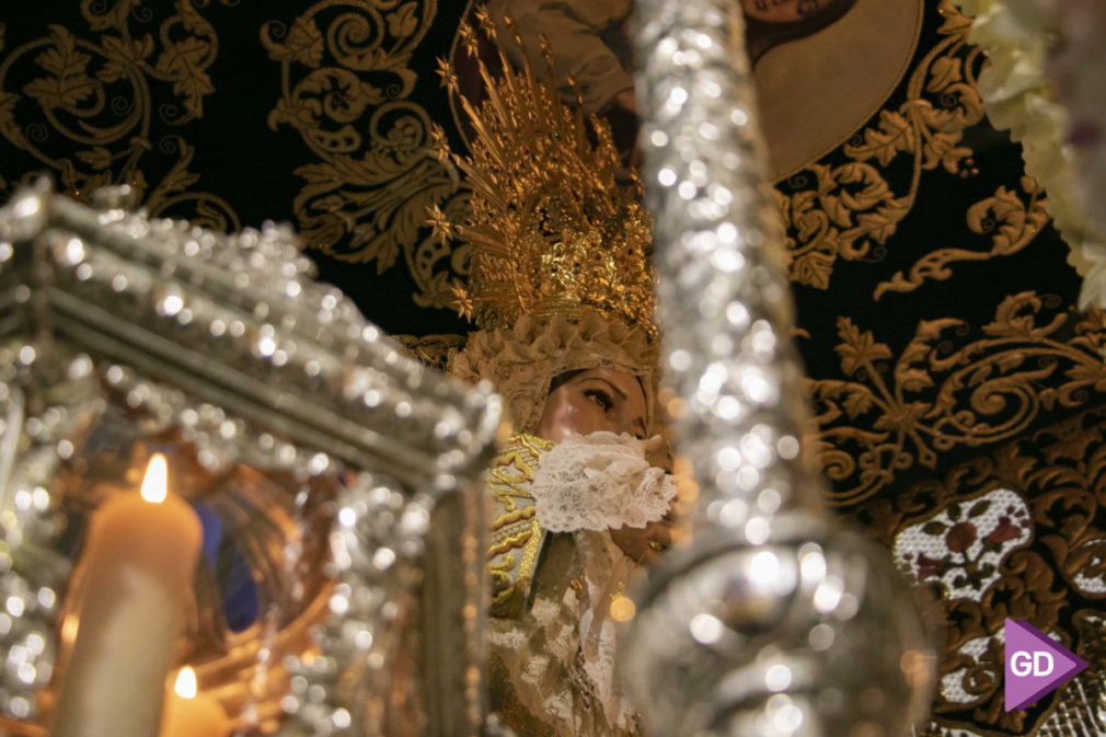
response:
<svg viewBox="0 0 1106 737"><path fill-rule="evenodd" d="M411 53L435 0L319 2L288 27L261 31L279 62L282 94L269 125L294 128L317 163L295 169L293 204L309 248L377 273L403 256L420 307L447 307L463 260L431 236L434 207L455 209L459 180L438 158L434 126L411 100ZM452 201L452 204L449 204Z"/></svg>

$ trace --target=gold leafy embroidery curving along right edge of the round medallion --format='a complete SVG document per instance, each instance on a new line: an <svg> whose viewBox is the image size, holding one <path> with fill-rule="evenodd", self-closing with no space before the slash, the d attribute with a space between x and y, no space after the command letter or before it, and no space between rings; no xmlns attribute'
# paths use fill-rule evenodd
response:
<svg viewBox="0 0 1106 737"><path fill-rule="evenodd" d="M922 172L974 173L962 138L983 116L973 75L980 54L967 45L971 22L947 0L938 12L941 38L915 64L906 101L880 111L874 125L843 146L852 160L811 165L776 186L792 281L828 289L838 258L879 258L914 208ZM901 155L911 159L908 179L898 175L902 167L893 176Z"/></svg>

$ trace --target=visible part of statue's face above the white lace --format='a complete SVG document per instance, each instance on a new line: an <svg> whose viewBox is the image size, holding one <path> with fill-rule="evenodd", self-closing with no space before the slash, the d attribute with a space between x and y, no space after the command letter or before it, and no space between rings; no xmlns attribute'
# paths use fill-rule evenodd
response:
<svg viewBox="0 0 1106 737"><path fill-rule="evenodd" d="M553 443L598 430L645 438L645 392L637 377L586 369L550 393L534 434Z"/></svg>

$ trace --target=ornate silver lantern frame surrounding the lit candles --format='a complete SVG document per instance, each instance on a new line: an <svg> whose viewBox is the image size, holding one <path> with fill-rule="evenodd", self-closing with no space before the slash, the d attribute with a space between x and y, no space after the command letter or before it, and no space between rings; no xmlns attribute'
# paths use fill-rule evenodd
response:
<svg viewBox="0 0 1106 737"><path fill-rule="evenodd" d="M122 209L124 191L96 201L43 179L0 209L4 714L33 719L50 679L59 515L85 516L127 482L126 453L159 444L264 570L246 632L202 630L220 621L204 601L192 617L222 653L200 685L237 734L477 734L474 499L499 398L404 355L313 281L285 228L228 237Z"/></svg>

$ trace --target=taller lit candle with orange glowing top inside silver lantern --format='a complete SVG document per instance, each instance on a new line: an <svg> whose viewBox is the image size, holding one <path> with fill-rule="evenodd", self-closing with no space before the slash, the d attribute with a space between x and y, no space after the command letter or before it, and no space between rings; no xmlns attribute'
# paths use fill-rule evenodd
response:
<svg viewBox="0 0 1106 737"><path fill-rule="evenodd" d="M167 477L165 457L154 456L140 495L116 495L92 515L53 737L158 734L202 540L199 518L168 492Z"/></svg>

